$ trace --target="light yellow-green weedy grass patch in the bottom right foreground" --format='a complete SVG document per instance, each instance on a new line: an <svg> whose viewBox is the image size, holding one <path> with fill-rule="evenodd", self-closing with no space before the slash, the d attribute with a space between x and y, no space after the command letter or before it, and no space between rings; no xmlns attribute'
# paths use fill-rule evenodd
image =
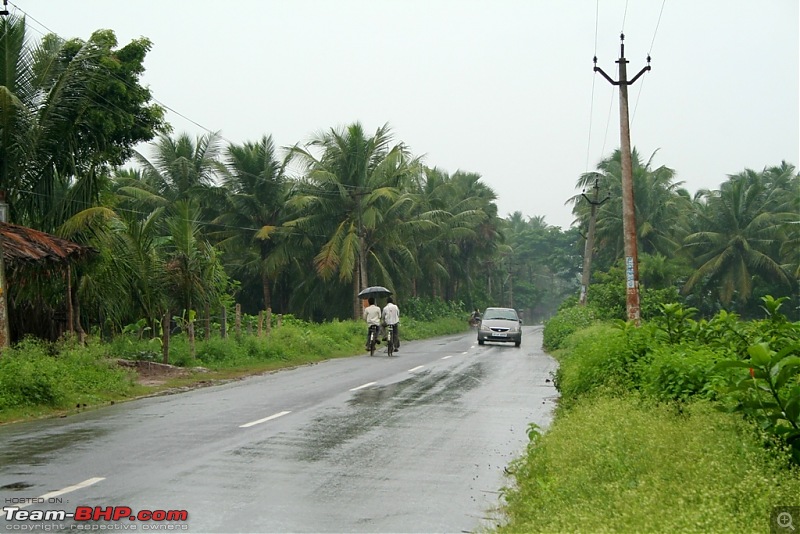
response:
<svg viewBox="0 0 800 534"><path fill-rule="evenodd" d="M707 401L588 395L509 467L498 532L768 532L800 470Z"/></svg>

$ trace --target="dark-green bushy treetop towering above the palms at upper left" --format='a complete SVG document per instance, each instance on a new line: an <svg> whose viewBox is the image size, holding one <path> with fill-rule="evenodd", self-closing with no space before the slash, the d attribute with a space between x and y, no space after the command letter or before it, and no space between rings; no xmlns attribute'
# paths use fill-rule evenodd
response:
<svg viewBox="0 0 800 534"><path fill-rule="evenodd" d="M133 146L166 130L139 85L151 43L116 46L109 30L30 46L24 18L0 20L0 188L12 220L55 231L97 205L109 168Z"/></svg>

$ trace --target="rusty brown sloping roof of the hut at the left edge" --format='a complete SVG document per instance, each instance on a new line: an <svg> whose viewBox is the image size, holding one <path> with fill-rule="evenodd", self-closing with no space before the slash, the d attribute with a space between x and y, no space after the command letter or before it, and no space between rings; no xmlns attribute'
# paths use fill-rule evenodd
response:
<svg viewBox="0 0 800 534"><path fill-rule="evenodd" d="M94 250L33 228L9 223L0 223L0 238L3 240L3 259L11 263L66 263Z"/></svg>

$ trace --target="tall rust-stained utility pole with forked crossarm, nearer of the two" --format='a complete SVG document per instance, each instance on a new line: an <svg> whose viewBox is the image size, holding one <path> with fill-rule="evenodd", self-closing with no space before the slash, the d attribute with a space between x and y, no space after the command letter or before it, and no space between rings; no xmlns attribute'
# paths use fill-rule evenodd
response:
<svg viewBox="0 0 800 534"><path fill-rule="evenodd" d="M627 284L628 320L638 326L639 314L639 259L636 252L636 210L633 202L633 165L631 163L631 132L628 119L628 86L632 85L646 71L650 70L650 56L647 56L647 66L631 80L628 80L625 59L625 34L620 34L619 81L614 81L597 66L597 57L594 58L594 71L603 75L612 85L619 86L619 121L620 121L620 152L622 157L622 231L625 241L625 273Z"/></svg>

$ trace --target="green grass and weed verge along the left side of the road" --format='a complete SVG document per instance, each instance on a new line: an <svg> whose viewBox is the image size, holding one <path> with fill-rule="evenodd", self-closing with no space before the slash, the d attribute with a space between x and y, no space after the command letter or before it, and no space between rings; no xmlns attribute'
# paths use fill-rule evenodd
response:
<svg viewBox="0 0 800 534"><path fill-rule="evenodd" d="M169 363L185 372L152 384L139 383L137 372L118 361L161 363L158 339L127 334L111 342L90 339L86 345L75 340L49 343L26 339L0 357L0 424L63 416L164 391L363 354L365 329L359 321L308 323L286 316L268 336L198 339L194 357L186 336L173 336ZM466 319L455 316L430 321L404 318L401 340L466 330Z"/></svg>

